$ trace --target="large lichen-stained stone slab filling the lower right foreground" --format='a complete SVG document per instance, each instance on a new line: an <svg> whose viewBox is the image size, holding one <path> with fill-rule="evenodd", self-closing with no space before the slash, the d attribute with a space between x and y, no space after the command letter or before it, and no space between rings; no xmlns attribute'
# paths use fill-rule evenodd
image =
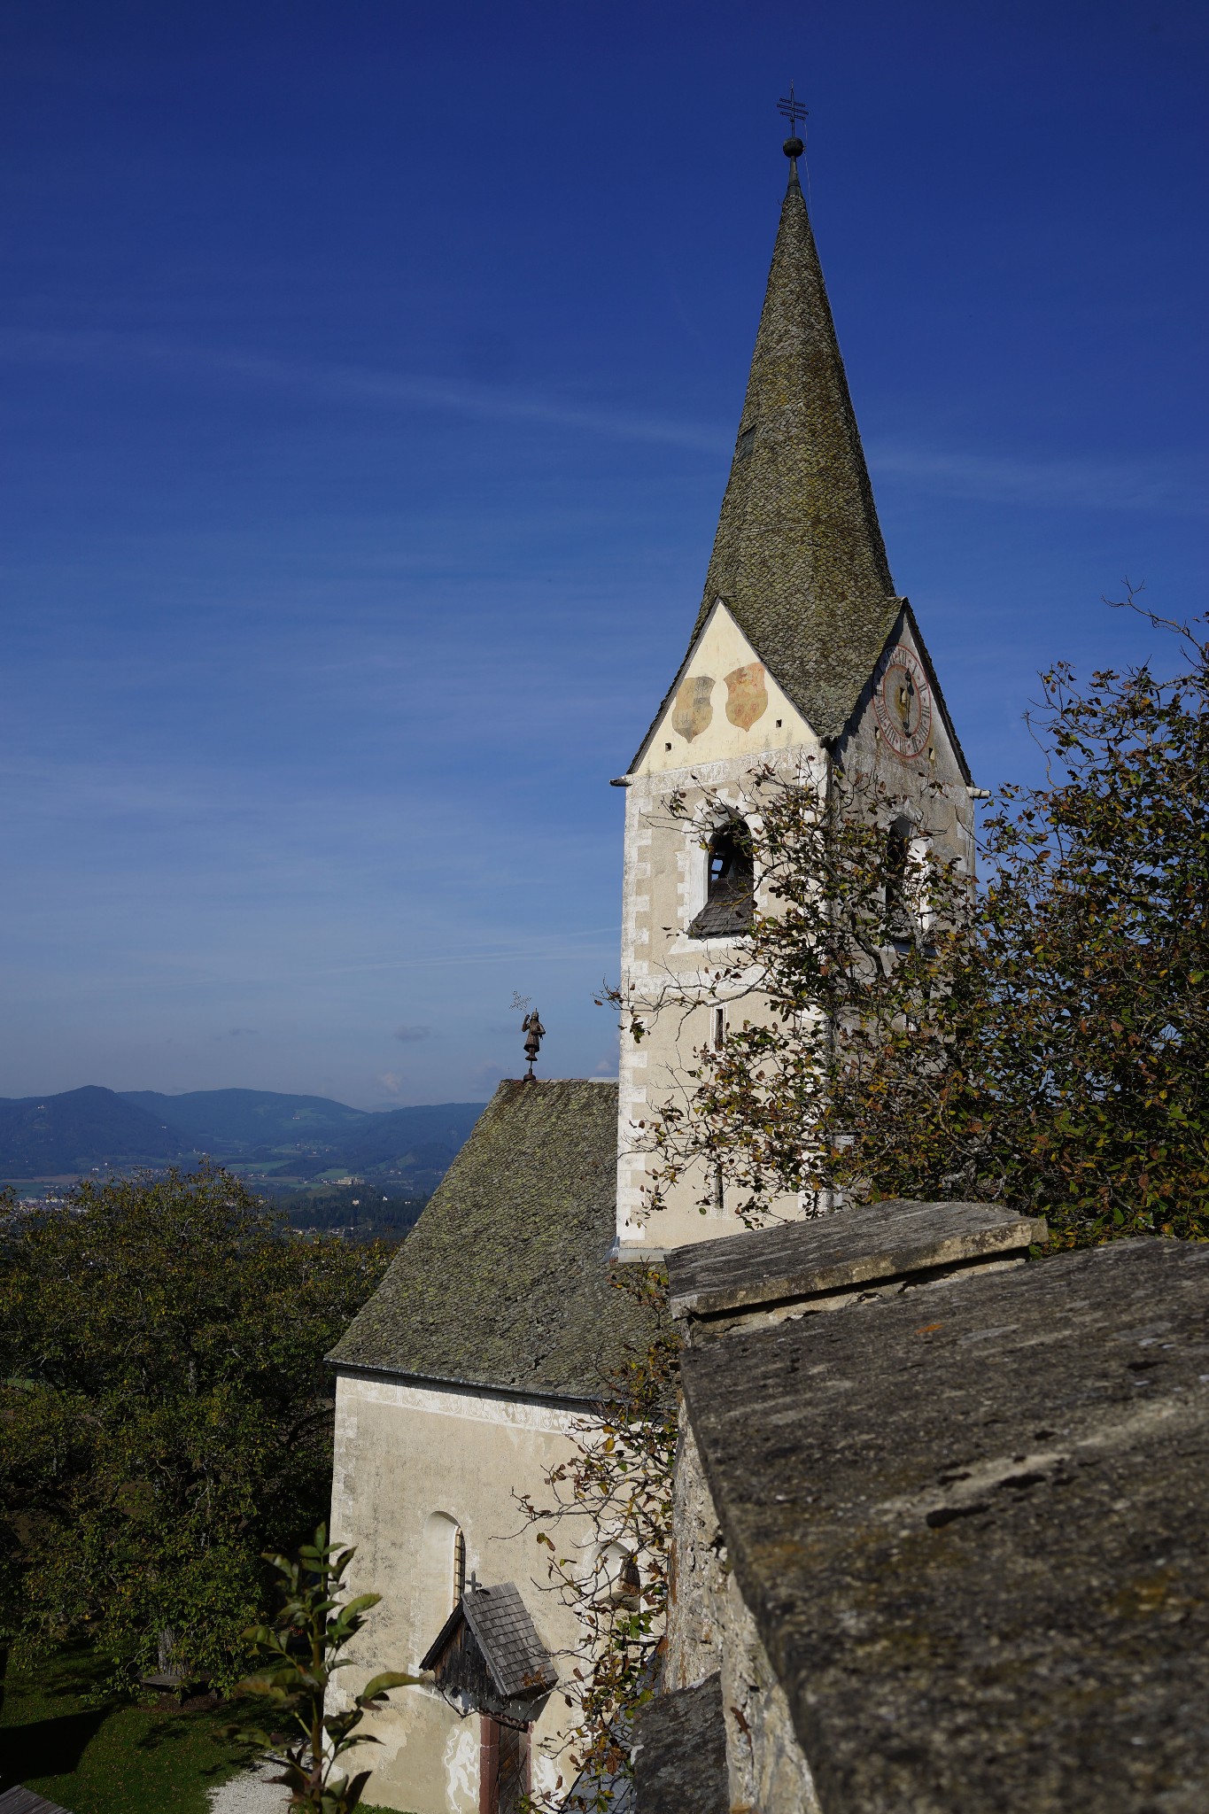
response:
<svg viewBox="0 0 1209 1814"><path fill-rule="evenodd" d="M1204 1814L1209 1246L738 1330L683 1382L827 1814Z"/></svg>

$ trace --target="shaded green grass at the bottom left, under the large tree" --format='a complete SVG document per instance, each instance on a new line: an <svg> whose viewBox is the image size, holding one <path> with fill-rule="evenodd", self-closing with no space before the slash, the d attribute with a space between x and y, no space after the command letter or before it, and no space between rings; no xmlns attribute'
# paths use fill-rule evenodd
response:
<svg viewBox="0 0 1209 1814"><path fill-rule="evenodd" d="M0 1790L24 1783L71 1814L208 1814L208 1790L247 1763L223 1738L263 1709L161 1705L103 1687L83 1653L11 1662L0 1712ZM361 1814L395 1814L363 1803Z"/></svg>

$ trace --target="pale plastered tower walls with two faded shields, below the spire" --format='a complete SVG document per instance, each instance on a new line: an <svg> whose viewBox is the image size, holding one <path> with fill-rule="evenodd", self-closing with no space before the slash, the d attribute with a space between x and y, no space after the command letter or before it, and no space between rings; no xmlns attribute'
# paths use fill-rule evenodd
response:
<svg viewBox="0 0 1209 1814"><path fill-rule="evenodd" d="M926 658L904 613L890 648L904 646L926 669ZM939 700L932 698L928 738L917 756L903 760L883 738L874 691L879 666L857 704L850 733L834 751L850 767L874 771L890 795L901 796L904 818L935 834L935 842L973 863L972 800L957 753L944 729ZM740 677L736 682L734 677ZM763 695L763 698L761 698ZM729 709L738 706L738 709ZM758 711L758 707L761 707ZM747 722L743 722L747 720ZM629 776L625 793L625 856L622 880L622 985L642 1010L671 983L707 980L711 969L734 952L732 940L689 938L689 925L705 903L707 853L705 795L750 816L752 769L776 764L787 775L812 773L823 780L828 753L801 713L763 671L759 657L729 610L711 613L674 697L667 702ZM932 784L939 782L943 800ZM672 820L671 793L683 796L689 816ZM924 804L926 802L926 804ZM698 811L700 809L700 811ZM756 894L758 905L765 905ZM658 1255L672 1246L738 1234L734 1197L721 1194L703 1172L678 1181L654 1215L645 1215L651 1159L643 1119L663 1101L683 1099L692 1054L712 1034L712 1007L756 1021L761 1007L743 987L730 1000L711 990L711 1005L691 1012L665 1007L640 1019L643 1038L622 1030L618 1101L618 1253L631 1259ZM711 1197L705 1214L700 1208ZM805 1214L805 1204L783 1197L778 1215Z"/></svg>

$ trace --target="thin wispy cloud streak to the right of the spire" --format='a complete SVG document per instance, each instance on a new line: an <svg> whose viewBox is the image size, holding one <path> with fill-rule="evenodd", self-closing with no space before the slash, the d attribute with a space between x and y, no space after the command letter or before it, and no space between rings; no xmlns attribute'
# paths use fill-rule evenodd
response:
<svg viewBox="0 0 1209 1814"><path fill-rule="evenodd" d="M868 464L874 477L899 479L921 492L988 504L1146 510L1175 517L1209 513L1204 481L1196 483L1175 466L1113 464L1078 457L1020 459L903 443L874 443Z"/></svg>

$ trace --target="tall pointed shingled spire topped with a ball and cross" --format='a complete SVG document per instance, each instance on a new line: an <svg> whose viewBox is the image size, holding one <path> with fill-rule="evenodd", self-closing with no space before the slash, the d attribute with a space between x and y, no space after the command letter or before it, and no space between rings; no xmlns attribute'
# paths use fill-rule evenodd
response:
<svg viewBox="0 0 1209 1814"><path fill-rule="evenodd" d="M801 140L772 250L696 631L723 599L819 736L848 722L899 615L807 203Z"/></svg>

